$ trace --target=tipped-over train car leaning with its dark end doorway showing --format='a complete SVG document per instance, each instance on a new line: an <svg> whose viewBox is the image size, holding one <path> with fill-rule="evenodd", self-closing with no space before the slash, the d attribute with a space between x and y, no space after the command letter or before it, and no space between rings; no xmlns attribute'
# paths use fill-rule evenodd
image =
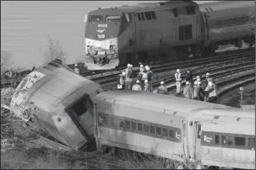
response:
<svg viewBox="0 0 256 170"><path fill-rule="evenodd" d="M20 82L11 111L25 121L32 117L49 135L70 148L87 150L86 146L94 145L92 98L101 92L100 84L77 75L59 61L51 61ZM31 103L36 111L26 115L32 114L27 111Z"/></svg>

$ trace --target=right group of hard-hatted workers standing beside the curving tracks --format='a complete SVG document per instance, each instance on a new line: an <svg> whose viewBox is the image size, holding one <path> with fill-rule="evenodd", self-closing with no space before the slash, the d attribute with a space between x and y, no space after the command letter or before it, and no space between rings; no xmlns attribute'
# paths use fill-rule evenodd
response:
<svg viewBox="0 0 256 170"><path fill-rule="evenodd" d="M182 78L179 69L177 69L175 78L177 93L180 93ZM183 95L185 98L200 100L209 103L216 103L218 88L213 78L210 77L209 72L206 73L204 81L202 81L202 78L200 76L197 76L196 80L193 82L192 72L188 70L186 77L186 87L183 89Z"/></svg>

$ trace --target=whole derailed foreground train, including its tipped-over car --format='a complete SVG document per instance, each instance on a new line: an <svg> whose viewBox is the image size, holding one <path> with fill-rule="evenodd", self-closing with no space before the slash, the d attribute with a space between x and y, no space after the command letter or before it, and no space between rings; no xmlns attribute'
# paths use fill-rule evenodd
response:
<svg viewBox="0 0 256 170"><path fill-rule="evenodd" d="M34 113L27 111L30 104ZM114 147L206 166L255 166L253 111L155 93L103 92L60 61L30 72L10 106L70 150Z"/></svg>

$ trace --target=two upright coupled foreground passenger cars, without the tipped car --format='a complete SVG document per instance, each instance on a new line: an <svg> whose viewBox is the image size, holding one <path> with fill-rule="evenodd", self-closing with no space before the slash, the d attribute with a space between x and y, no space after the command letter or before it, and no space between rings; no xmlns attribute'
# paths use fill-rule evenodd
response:
<svg viewBox="0 0 256 170"><path fill-rule="evenodd" d="M154 99L153 99L154 98ZM114 146L216 167L255 167L255 114L144 92L95 98L97 149Z"/></svg>

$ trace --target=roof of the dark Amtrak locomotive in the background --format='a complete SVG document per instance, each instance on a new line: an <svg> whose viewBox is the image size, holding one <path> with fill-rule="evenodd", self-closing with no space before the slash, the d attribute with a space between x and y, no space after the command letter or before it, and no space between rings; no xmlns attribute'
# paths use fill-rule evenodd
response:
<svg viewBox="0 0 256 170"><path fill-rule="evenodd" d="M122 13L136 13L138 11L150 11L150 10L161 10L167 8L177 8L185 4L197 5L193 1L166 1L159 3L139 3L138 5L132 6L121 6L115 8L99 8L88 13L89 15L111 15L111 14L122 14Z"/></svg>

